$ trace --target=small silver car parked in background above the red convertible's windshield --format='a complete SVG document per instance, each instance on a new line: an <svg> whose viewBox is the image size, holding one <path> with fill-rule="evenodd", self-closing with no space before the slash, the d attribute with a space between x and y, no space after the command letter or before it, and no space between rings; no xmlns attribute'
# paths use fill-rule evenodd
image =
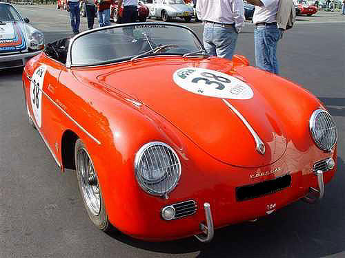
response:
<svg viewBox="0 0 345 258"><path fill-rule="evenodd" d="M184 0L153 0L146 6L150 10L149 17L159 17L163 21L179 17L189 22L194 14L193 7L184 3Z"/></svg>

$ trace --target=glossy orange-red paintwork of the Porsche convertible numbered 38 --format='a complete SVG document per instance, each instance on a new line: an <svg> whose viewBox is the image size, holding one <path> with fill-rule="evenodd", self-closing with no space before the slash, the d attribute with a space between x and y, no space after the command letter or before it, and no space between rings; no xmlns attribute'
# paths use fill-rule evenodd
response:
<svg viewBox="0 0 345 258"><path fill-rule="evenodd" d="M43 91L101 144L48 98L42 99L41 133L61 164L63 133L73 131L86 143L110 222L139 239L168 240L199 233L199 223L205 221L204 202L210 203L216 228L264 216L268 204L282 208L304 197L309 187L317 187L314 162L328 157L337 160L336 148L331 153L321 151L309 133L308 120L315 109L324 108L322 103L284 78L247 66L243 56L235 56L233 61L156 56L135 63L66 69L42 53L23 72L26 99L30 98L26 74L32 76L41 64L48 66ZM175 85L172 73L181 67L216 69L246 80L254 90L253 99L231 103L262 136L264 155L255 151L248 130L221 100L191 94ZM144 105L137 107L128 99ZM34 118L30 103L28 109ZM168 200L145 193L133 171L135 153L154 140L169 144L181 160L181 179ZM281 170L250 179L250 174L277 167ZM324 174L325 183L335 170ZM270 180L288 171L293 179L287 189L244 202L235 200L237 186ZM170 222L161 219L161 208L190 199L197 202L195 215Z"/></svg>

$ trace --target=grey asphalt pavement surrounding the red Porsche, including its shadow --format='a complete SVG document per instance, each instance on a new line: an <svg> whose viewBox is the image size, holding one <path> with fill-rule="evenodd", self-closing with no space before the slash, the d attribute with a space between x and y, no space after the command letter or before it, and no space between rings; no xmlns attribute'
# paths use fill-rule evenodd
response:
<svg viewBox="0 0 345 258"><path fill-rule="evenodd" d="M47 42L71 34L64 10L18 9ZM8 69L0 72L0 257L345 257L345 17L317 12L297 18L279 43L282 76L320 98L339 133L337 173L321 202L295 202L255 223L215 230L210 244L193 237L150 243L102 233L88 219L74 171L59 171L28 124L22 69ZM86 30L86 18L81 21ZM175 22L202 37L201 23ZM254 65L250 22L239 34L236 53Z"/></svg>

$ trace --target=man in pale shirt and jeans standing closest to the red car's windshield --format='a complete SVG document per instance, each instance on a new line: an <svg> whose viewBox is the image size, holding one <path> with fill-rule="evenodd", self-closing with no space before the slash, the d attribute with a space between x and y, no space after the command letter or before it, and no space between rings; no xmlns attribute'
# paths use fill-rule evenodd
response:
<svg viewBox="0 0 345 258"><path fill-rule="evenodd" d="M197 17L204 21L204 46L211 56L231 59L244 27L243 0L197 0Z"/></svg>

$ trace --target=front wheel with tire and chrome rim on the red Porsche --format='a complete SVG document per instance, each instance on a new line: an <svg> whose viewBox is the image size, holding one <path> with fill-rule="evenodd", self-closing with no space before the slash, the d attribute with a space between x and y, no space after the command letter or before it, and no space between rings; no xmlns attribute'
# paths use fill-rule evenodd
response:
<svg viewBox="0 0 345 258"><path fill-rule="evenodd" d="M110 230L111 224L104 206L95 166L81 139L78 139L75 143L75 167L79 190L86 211L88 211L88 216L99 229L103 231Z"/></svg>

